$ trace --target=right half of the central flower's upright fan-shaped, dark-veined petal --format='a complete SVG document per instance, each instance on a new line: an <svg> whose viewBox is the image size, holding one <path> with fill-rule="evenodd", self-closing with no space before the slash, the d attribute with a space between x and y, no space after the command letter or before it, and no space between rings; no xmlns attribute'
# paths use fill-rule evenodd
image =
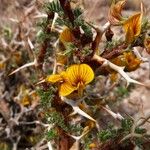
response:
<svg viewBox="0 0 150 150"><path fill-rule="evenodd" d="M81 64L79 66L79 77L84 84L88 84L94 79L94 72L89 65Z"/></svg>

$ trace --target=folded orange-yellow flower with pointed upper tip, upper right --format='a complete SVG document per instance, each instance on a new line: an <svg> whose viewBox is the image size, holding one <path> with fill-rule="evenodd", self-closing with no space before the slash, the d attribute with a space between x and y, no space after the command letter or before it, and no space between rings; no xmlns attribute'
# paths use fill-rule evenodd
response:
<svg viewBox="0 0 150 150"><path fill-rule="evenodd" d="M123 23L126 32L126 42L132 43L134 39L141 33L142 13L137 13Z"/></svg>

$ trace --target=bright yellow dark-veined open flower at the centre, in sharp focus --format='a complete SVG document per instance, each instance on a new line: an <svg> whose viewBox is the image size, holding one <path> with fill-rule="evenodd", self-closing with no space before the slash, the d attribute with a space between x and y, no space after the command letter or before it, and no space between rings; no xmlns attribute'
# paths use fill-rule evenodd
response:
<svg viewBox="0 0 150 150"><path fill-rule="evenodd" d="M75 90L82 95L85 86L94 79L94 72L87 64L75 64L60 74L50 75L46 81L59 83L59 94L68 96Z"/></svg>

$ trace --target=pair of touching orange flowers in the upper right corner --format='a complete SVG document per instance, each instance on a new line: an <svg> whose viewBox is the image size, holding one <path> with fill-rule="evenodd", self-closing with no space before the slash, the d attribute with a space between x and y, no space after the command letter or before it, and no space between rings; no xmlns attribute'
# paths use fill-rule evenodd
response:
<svg viewBox="0 0 150 150"><path fill-rule="evenodd" d="M121 11L125 5L126 0L112 3L108 14L109 21L112 25L122 25L126 33L126 43L130 44L141 33L142 18L143 18L143 4L141 3L141 12L135 13L129 18L122 16Z"/></svg>

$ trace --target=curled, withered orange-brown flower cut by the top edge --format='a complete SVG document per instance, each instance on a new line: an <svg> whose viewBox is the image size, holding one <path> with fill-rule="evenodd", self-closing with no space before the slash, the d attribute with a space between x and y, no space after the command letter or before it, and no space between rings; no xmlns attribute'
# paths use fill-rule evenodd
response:
<svg viewBox="0 0 150 150"><path fill-rule="evenodd" d="M115 3L112 2L109 13L108 13L108 19L111 24L113 25L119 25L123 19L121 11L126 3L126 0L121 0Z"/></svg>

